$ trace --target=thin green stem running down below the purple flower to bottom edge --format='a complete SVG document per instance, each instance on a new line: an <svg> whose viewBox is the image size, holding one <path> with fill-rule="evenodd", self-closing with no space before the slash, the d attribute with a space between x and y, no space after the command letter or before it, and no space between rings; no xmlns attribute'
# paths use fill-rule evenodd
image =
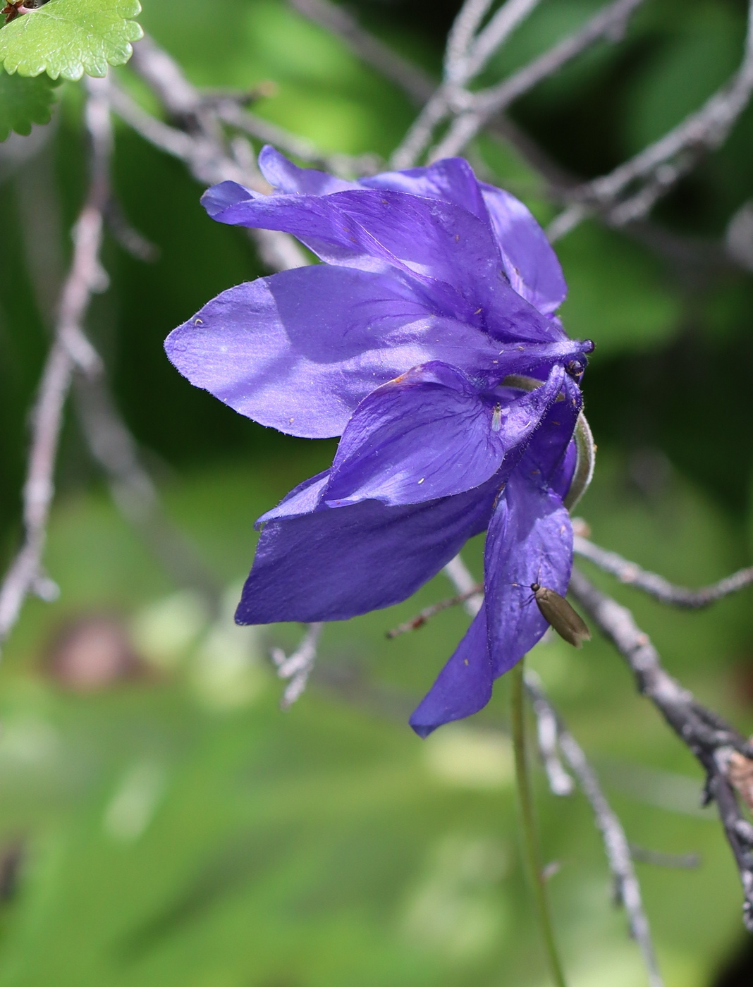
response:
<svg viewBox="0 0 753 987"><path fill-rule="evenodd" d="M547 959L549 960L552 971L552 979L557 984L557 987L566 987L563 964L560 960L560 954L557 951L555 934L552 928L552 916L550 915L549 901L547 899L547 885L544 879L539 843L536 836L533 796L528 777L522 661L518 661L515 667L511 669L510 676L512 678L512 743L515 751L515 778L518 787L520 818L523 824L523 844L526 865L531 878L536 915L539 920L544 948L546 949Z"/></svg>

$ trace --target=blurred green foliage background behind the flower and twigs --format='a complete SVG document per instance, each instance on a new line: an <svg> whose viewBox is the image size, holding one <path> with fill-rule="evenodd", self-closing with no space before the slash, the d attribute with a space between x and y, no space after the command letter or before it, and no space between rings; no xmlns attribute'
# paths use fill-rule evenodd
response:
<svg viewBox="0 0 753 987"><path fill-rule="evenodd" d="M436 71L454 6L359 0L355 10ZM597 6L543 0L488 79ZM589 177L614 167L733 70L744 7L647 2L622 44L598 46L513 116L565 170ZM198 85L273 81L275 95L255 109L326 150L386 157L413 118L399 91L282 0L161 0L142 21ZM144 98L127 67L118 73ZM62 93L37 156L0 161L5 558L19 530L26 421L69 251L64 231L86 180L80 91ZM513 148L484 138L470 154L542 220L554 214ZM565 326L597 343L584 387L599 462L578 511L602 544L689 584L750 562L753 282L719 265L709 244L753 195L752 155L748 112L655 210L684 253L649 235L655 227L596 223L558 245ZM173 370L167 333L263 270L242 231L206 218L185 168L119 124L115 184L129 222L160 253L146 265L108 241L111 287L90 330L171 517L232 596L253 558L253 520L324 468L333 443L279 436ZM446 611L414 636L384 639L447 594L443 577L394 612L329 628L318 681L282 715L264 655L270 644L292 646L298 629L247 632L228 614L204 614L117 516L73 419L57 479L47 566L61 597L28 605L0 672L0 987L544 987L518 863L505 684L477 721L422 743L407 715L465 618ZM469 550L476 571L481 551ZM671 671L742 728L753 725L749 595L685 614L616 592ZM66 689L54 655L95 618L128 641L130 677ZM711 984L739 935L739 892L713 811L698 807L694 762L606 645L540 645L532 662L630 839L701 854L698 870L640 865L640 876L669 987ZM589 812L536 780L545 854L562 865L551 887L571 983L633 987L637 952L609 906ZM13 871L18 846L12 893L3 869Z"/></svg>

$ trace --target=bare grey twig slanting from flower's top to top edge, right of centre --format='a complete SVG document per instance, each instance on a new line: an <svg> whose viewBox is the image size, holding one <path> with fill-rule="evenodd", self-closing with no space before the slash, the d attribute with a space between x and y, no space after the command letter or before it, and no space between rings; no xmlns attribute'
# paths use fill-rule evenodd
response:
<svg viewBox="0 0 753 987"><path fill-rule="evenodd" d="M592 17L579 31L564 38L508 79L473 94L471 108L459 114L429 159L460 154L469 141L487 125L494 114L505 110L543 79L554 75L576 55L601 38L619 38L631 14L643 0L614 0Z"/></svg>

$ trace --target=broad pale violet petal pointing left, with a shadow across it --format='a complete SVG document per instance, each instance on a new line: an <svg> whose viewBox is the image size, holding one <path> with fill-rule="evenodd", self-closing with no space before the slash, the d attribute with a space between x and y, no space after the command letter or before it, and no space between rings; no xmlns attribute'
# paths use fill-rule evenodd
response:
<svg viewBox="0 0 753 987"><path fill-rule="evenodd" d="M223 291L165 348L196 387L308 438L341 434L367 394L418 363L475 373L503 358L487 334L433 315L399 275L324 265Z"/></svg>

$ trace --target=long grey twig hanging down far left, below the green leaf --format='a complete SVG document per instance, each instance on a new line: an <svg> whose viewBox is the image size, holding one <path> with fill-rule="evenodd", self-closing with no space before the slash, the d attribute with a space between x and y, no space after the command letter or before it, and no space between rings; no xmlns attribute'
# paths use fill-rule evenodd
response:
<svg viewBox="0 0 753 987"><path fill-rule="evenodd" d="M103 287L99 253L103 209L109 196L113 134L105 79L87 80L86 125L90 137L90 184L73 229L73 262L63 285L52 346L39 384L32 444L24 485L24 542L0 585L0 645L14 628L26 597L47 580L41 569L47 519L54 494L54 468L63 409L74 368L99 369L99 357L83 334L92 293Z"/></svg>

